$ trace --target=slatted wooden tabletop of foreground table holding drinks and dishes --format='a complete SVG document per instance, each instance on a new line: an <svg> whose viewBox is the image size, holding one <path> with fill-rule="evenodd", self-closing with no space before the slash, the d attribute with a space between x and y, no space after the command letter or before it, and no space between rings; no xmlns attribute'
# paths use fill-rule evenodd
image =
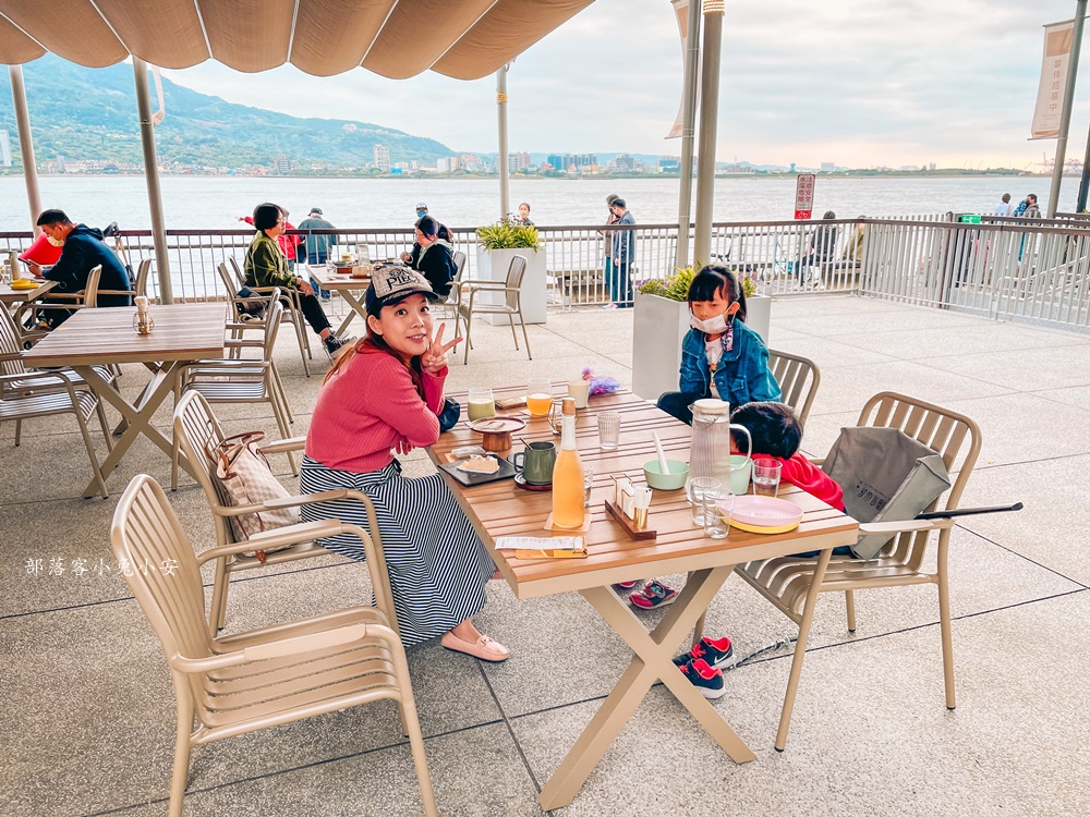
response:
<svg viewBox="0 0 1090 817"><path fill-rule="evenodd" d="M564 387L554 386L554 394ZM494 389L497 398L525 392L525 387ZM462 402L464 394L451 395ZM621 415L620 447L617 451L598 448L597 418L603 411ZM500 412L528 417L525 410ZM529 418L529 417L528 417ZM608 516L603 507L613 498L610 474L626 474L637 485L644 485L643 464L655 459L652 430L658 431L669 459L689 461L691 429L683 423L659 411L653 404L631 393L596 395L589 407L577 412L576 439L580 459L594 466L594 486L591 492L591 529L583 534L590 556L586 559L518 560L513 551L495 551L496 563L516 596L533 598L569 590L601 587L621 581L650 578L667 573L679 573L701 568L736 564L773 556L818 550L826 547L851 545L856 541L859 523L850 516L829 508L824 502L794 486L782 487L780 497L789 499L804 511L802 523L786 534L752 534L730 529L726 539L710 539L692 524L692 515L685 490L654 491L651 501L649 527L658 532L657 539L633 541ZM526 441L553 440L544 418L529 418L522 432L516 432L514 451L521 451L519 438ZM428 449L435 462L445 462L446 455L458 446L481 442L481 435L471 431L464 422L441 435ZM509 456L510 452L500 452ZM448 483L467 515L484 541L493 547L497 536L548 537L545 519L552 511L552 493L532 492L519 488L514 480L467 488L448 477ZM543 546L547 547L547 546Z"/></svg>

